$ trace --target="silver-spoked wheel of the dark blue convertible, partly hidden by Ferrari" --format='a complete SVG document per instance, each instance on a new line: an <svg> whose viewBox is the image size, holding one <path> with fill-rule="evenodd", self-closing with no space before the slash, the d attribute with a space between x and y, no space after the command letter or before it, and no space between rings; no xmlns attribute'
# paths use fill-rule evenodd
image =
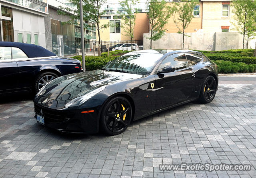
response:
<svg viewBox="0 0 256 178"><path fill-rule="evenodd" d="M35 83L34 83L34 91L35 91L35 93L38 93L39 89L41 89L48 82L50 82L53 79L56 79L58 77L59 77L58 74L56 74L54 72L43 72L43 73L40 73L36 77L36 80L35 80ZM45 81L44 83L42 83L43 80ZM41 84L44 84L44 85L41 85Z"/></svg>

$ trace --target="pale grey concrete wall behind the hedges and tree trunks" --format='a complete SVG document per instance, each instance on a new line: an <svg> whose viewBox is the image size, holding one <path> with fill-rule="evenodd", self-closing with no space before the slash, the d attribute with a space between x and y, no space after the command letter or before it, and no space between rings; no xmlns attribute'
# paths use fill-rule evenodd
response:
<svg viewBox="0 0 256 178"><path fill-rule="evenodd" d="M241 49L243 36L238 32L202 32L186 33L184 49L220 51L227 49ZM144 49L150 48L149 34L144 34ZM251 40L254 42L254 40ZM254 48L255 43L249 43ZM182 49L182 34L166 33L160 40L152 41L152 49Z"/></svg>

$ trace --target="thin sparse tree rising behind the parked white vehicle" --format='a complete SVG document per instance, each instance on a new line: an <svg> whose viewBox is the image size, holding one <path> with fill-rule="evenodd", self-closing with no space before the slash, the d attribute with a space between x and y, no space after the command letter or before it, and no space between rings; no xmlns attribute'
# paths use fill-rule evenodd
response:
<svg viewBox="0 0 256 178"><path fill-rule="evenodd" d="M129 36L134 38L134 25L135 25L135 15L132 7L138 3L137 0L123 0L120 2L120 6L124 12L119 12L121 19L123 20L120 23L121 28L124 30L124 36ZM135 9L135 12L137 10Z"/></svg>

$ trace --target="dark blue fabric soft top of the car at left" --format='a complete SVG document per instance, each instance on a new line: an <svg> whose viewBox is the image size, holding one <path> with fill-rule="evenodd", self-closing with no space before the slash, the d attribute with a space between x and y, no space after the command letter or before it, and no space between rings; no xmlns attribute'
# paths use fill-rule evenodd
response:
<svg viewBox="0 0 256 178"><path fill-rule="evenodd" d="M0 46L18 47L29 58L56 56L56 54L52 53L51 51L48 51L44 47L41 47L41 46L38 46L38 45L34 45L34 44L16 43L16 42L0 42Z"/></svg>

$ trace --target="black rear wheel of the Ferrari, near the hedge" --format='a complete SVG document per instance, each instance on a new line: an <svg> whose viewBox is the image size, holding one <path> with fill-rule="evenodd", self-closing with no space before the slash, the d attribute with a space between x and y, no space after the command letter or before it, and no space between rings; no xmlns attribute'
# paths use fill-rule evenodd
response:
<svg viewBox="0 0 256 178"><path fill-rule="evenodd" d="M201 87L198 101L200 103L210 103L215 97L217 89L217 83L213 76L209 75L204 80L204 84Z"/></svg>

